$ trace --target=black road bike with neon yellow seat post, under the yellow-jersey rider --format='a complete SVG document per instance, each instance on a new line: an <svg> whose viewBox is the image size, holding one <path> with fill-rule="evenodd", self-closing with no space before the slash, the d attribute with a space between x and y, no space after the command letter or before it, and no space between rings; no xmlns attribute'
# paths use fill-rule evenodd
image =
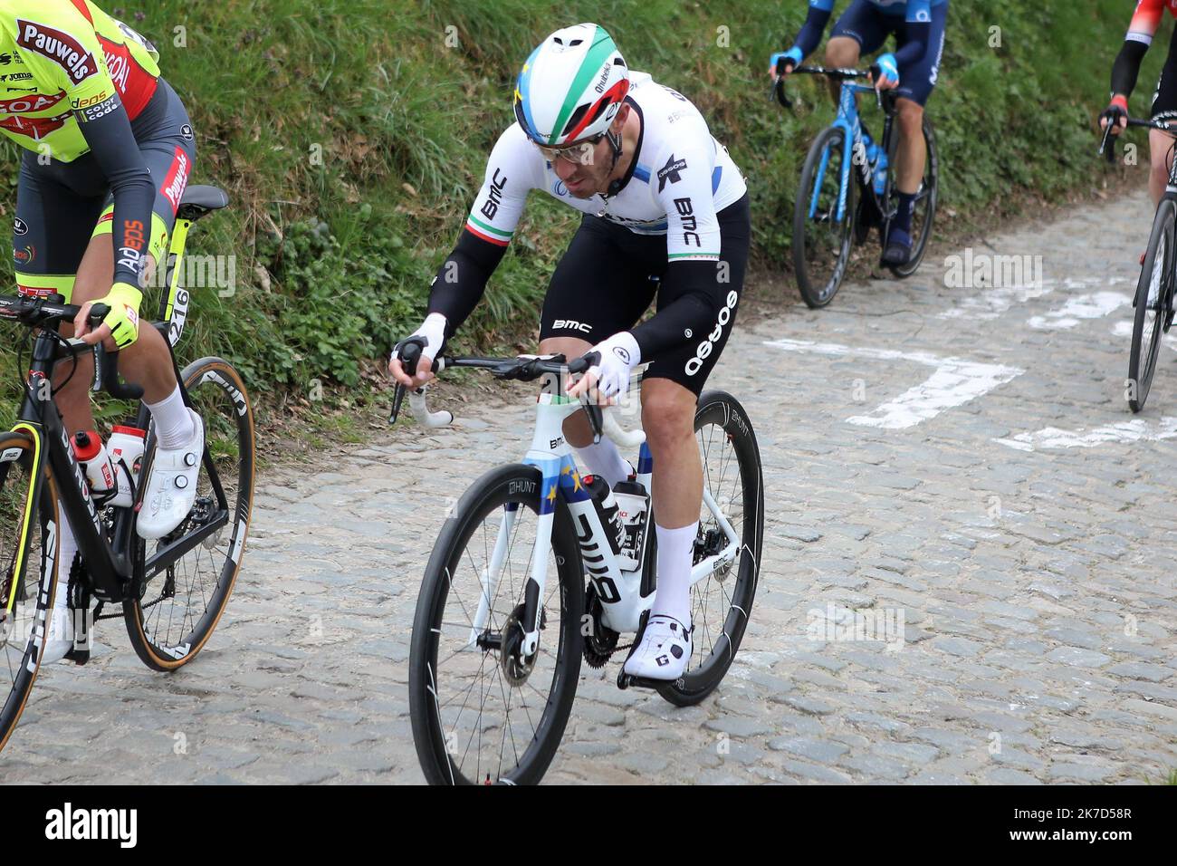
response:
<svg viewBox="0 0 1177 866"><path fill-rule="evenodd" d="M227 196L215 187L191 187L168 250L169 290L160 302L162 320L154 326L173 349L184 402L204 418L206 432L195 505L162 538L144 541L135 531L145 484L134 489L129 507L108 504L113 494L98 500L92 495L54 402L54 366L72 364L77 370L79 357L93 352L95 391L138 401L142 389L119 381L117 352L58 332L80 309L61 303L60 295L0 297L0 319L29 329L32 339L16 424L0 434L0 748L36 680L54 599L66 591L67 577L74 627L67 657L88 661L93 621L121 616L135 653L154 670L175 670L192 661L233 591L253 502L253 411L241 377L228 362L207 357L180 370L174 356L188 308L188 292L179 285L188 229L227 204ZM92 312L97 325L106 309L98 304ZM147 431L139 474L147 478L155 436L142 403L133 423ZM129 469L121 467L134 477ZM65 568L58 558L62 517L74 530L80 554ZM121 612L104 614L115 606Z"/></svg>

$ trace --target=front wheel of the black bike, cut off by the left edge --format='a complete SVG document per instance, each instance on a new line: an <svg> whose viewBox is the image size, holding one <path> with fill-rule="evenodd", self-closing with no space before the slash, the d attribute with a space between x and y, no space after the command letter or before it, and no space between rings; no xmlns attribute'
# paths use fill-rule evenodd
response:
<svg viewBox="0 0 1177 866"><path fill-rule="evenodd" d="M56 589L56 496L47 470L34 485L34 457L31 438L0 435L0 749L36 680Z"/></svg>

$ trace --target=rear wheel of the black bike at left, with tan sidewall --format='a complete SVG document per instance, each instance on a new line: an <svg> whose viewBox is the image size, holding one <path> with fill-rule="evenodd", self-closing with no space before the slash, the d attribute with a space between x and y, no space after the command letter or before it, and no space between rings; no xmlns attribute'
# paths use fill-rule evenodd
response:
<svg viewBox="0 0 1177 866"><path fill-rule="evenodd" d="M181 373L192 408L205 421L205 455L197 502L172 533L148 541L134 536L138 597L122 603L131 646L153 670L175 670L199 653L228 603L245 554L253 513L253 409L237 370L202 358ZM144 455L147 478L154 436ZM165 563L166 550L199 543ZM162 556L161 556L162 555Z"/></svg>

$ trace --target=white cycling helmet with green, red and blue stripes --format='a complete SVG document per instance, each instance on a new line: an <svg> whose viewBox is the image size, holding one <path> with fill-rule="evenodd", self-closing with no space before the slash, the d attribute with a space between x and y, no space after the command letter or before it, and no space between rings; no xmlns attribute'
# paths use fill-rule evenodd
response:
<svg viewBox="0 0 1177 866"><path fill-rule="evenodd" d="M557 147L609 130L629 91L630 70L612 37L578 24L556 31L523 65L516 119L532 141Z"/></svg>

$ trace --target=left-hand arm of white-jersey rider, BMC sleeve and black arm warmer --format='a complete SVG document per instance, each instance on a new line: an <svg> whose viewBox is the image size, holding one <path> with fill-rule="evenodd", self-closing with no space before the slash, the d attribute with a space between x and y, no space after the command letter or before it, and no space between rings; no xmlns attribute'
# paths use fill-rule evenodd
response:
<svg viewBox="0 0 1177 866"><path fill-rule="evenodd" d="M541 170L543 157L517 125L499 137L491 152L466 226L430 290L428 312L445 316L447 339L481 300L487 280L507 251L534 186L537 159Z"/></svg>

